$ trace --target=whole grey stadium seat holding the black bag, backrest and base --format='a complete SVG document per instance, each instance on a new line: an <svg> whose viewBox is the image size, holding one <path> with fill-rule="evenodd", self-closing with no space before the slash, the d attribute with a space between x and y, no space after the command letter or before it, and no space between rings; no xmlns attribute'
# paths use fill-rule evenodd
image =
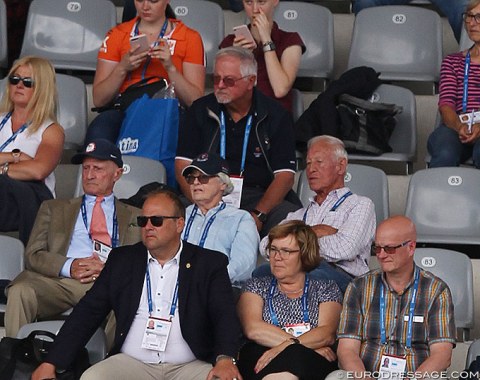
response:
<svg viewBox="0 0 480 380"><path fill-rule="evenodd" d="M406 173L411 173L417 149L415 96L406 88L382 84L373 92L370 100L373 102L396 104L403 108L403 111L396 116L397 125L390 137L389 143L392 147L392 152L383 153L379 156L349 154L349 160L355 162L404 163Z"/></svg>

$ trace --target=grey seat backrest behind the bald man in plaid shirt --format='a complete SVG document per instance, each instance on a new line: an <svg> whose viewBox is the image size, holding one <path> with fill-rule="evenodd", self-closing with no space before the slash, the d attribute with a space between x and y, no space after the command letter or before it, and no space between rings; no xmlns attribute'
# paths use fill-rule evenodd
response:
<svg viewBox="0 0 480 380"><path fill-rule="evenodd" d="M441 278L450 288L455 326L473 328L473 269L470 258L461 252L439 248L417 248L414 258L418 266Z"/></svg>

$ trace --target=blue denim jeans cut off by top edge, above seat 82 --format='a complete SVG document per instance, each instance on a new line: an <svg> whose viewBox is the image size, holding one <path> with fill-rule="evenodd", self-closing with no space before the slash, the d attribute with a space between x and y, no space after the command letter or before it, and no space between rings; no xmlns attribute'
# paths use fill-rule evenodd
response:
<svg viewBox="0 0 480 380"><path fill-rule="evenodd" d="M376 7L379 5L405 5L411 0L355 0L353 3L353 11L355 14L363 8ZM460 34L463 28L462 13L465 12L468 0L429 0L448 18L448 22L452 27L453 34L458 42L460 42Z"/></svg>

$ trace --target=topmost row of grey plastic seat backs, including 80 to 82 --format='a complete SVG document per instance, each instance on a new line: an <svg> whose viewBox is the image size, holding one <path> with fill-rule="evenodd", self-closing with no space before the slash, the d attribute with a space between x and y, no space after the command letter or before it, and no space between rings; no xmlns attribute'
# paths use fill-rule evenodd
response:
<svg viewBox="0 0 480 380"><path fill-rule="evenodd" d="M222 8L207 0L171 0L170 5L177 18L202 35L207 73L211 73L218 45L231 33L225 31ZM0 0L0 67L6 64L6 33L2 32L6 12L2 7L4 0ZM333 79L330 10L301 1L280 2L274 19L281 29L298 32L307 46L298 77ZM21 55L46 57L57 69L94 71L98 48L115 23L116 9L109 0L34 0ZM436 83L442 44L441 19L434 11L408 5L367 8L355 19L348 68L371 66L387 81Z"/></svg>

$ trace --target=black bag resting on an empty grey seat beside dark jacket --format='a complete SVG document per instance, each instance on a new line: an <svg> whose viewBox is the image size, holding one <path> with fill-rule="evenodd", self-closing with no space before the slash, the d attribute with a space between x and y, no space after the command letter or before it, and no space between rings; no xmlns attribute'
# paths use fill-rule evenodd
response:
<svg viewBox="0 0 480 380"><path fill-rule="evenodd" d="M337 113L341 139L349 153L380 155L391 152L389 144L402 107L372 103L348 94L339 97Z"/></svg>

